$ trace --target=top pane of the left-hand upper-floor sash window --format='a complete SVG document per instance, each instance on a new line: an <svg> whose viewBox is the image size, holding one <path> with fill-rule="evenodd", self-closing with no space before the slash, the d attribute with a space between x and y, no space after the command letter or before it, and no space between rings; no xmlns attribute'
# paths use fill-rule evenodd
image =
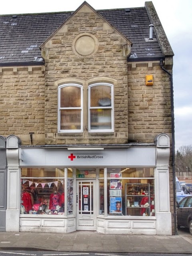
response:
<svg viewBox="0 0 192 256"><path fill-rule="evenodd" d="M77 108L81 106L81 88L78 86L64 86L60 89L60 107Z"/></svg>

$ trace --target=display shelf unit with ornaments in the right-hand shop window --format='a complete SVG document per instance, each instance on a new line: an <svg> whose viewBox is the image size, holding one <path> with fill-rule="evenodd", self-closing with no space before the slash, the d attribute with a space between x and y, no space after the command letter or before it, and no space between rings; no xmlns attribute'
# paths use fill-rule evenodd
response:
<svg viewBox="0 0 192 256"><path fill-rule="evenodd" d="M154 210L154 186L151 184L125 184L125 213L130 216L150 216Z"/></svg>

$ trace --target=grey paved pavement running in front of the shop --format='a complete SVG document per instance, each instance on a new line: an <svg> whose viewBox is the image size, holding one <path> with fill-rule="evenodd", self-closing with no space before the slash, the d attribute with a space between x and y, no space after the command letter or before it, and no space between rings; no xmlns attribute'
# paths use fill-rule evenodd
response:
<svg viewBox="0 0 192 256"><path fill-rule="evenodd" d="M0 232L0 250L46 250L58 252L175 253L192 254L192 235L176 236L101 234L76 231L68 234Z"/></svg>

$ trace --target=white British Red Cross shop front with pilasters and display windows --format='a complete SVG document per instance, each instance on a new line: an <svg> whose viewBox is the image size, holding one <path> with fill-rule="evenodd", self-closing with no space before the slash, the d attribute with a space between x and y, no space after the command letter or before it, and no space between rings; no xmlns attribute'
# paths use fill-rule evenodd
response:
<svg viewBox="0 0 192 256"><path fill-rule="evenodd" d="M145 146L15 144L6 231L171 235L169 152L165 134Z"/></svg>

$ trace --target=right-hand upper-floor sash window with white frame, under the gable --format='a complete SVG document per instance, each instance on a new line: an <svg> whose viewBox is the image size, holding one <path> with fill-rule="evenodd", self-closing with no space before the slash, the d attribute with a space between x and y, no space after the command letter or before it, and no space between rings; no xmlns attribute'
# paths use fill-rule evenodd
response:
<svg viewBox="0 0 192 256"><path fill-rule="evenodd" d="M92 84L88 87L89 132L114 132L113 85Z"/></svg>

